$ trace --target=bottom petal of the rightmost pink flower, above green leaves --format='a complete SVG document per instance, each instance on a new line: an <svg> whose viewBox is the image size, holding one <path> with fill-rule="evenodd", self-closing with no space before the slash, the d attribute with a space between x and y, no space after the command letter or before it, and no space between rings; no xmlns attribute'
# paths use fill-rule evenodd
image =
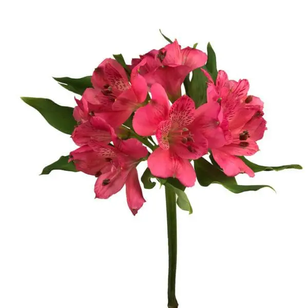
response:
<svg viewBox="0 0 308 308"><path fill-rule="evenodd" d="M240 158L229 155L220 150L213 150L213 157L223 172L228 177L235 177L240 173L246 173L249 177L254 177L254 171L249 168Z"/></svg>

